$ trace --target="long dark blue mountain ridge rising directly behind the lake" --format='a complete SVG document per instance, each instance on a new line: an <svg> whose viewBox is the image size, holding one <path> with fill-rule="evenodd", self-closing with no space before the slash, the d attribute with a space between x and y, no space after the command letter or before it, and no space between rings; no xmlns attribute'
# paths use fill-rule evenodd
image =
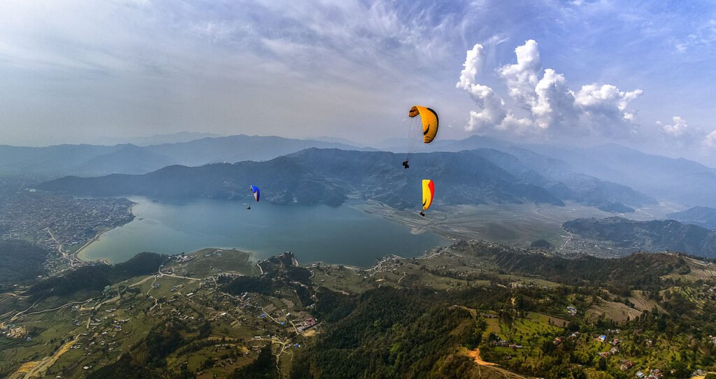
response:
<svg viewBox="0 0 716 379"><path fill-rule="evenodd" d="M575 183L567 186L535 171L527 170L522 177L517 176L514 173L526 170L519 160L493 150L421 153L411 159L408 170L400 165L402 159L403 155L387 152L309 148L263 162L199 167L171 165L143 175L69 176L43 183L38 188L87 196L135 194L152 198L246 199L248 185L255 184L261 186L262 198L272 203L337 206L353 197L381 201L395 208L411 208L420 205L420 180L431 178L436 184L436 205L549 203L561 206L563 200L576 200L588 204L619 201L641 206L654 201L630 188L594 178L587 181L589 186L580 188Z"/></svg>

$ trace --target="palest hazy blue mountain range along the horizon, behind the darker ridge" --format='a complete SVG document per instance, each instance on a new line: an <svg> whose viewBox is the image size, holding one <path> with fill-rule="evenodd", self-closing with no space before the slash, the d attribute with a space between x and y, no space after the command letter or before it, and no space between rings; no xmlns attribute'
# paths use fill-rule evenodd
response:
<svg viewBox="0 0 716 379"><path fill-rule="evenodd" d="M162 136L158 136L161 139ZM167 138L190 138L170 135ZM381 144L405 150L401 140ZM102 176L150 173L169 165L198 166L244 160L271 160L306 148L373 151L338 138L296 140L233 135L160 145L57 145L21 148L0 145L0 174ZM478 155L519 181L546 189L562 200L597 206L612 213L667 201L716 208L716 169L686 159L666 158L609 144L592 148L511 143L472 136L435 140L418 152L477 150ZM398 153L403 155L404 152ZM404 157L400 157L404 158Z"/></svg>

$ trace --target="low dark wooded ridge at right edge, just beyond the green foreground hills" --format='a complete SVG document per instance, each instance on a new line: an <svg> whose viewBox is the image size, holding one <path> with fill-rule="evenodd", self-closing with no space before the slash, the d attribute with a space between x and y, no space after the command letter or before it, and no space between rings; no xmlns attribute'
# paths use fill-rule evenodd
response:
<svg viewBox="0 0 716 379"><path fill-rule="evenodd" d="M562 227L586 239L631 251L680 251L716 257L716 231L675 220L632 221L621 217L576 219Z"/></svg>

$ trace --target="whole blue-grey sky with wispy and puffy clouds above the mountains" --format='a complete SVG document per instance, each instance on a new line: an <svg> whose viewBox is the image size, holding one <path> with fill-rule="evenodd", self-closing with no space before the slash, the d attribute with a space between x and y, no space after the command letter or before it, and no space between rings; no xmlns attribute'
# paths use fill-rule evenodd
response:
<svg viewBox="0 0 716 379"><path fill-rule="evenodd" d="M0 2L0 144L190 131L619 143L716 164L711 1Z"/></svg>

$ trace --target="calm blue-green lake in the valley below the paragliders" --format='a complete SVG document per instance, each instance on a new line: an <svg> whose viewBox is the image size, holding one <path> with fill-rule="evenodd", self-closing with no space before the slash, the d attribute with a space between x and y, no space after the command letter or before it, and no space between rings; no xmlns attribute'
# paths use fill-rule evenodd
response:
<svg viewBox="0 0 716 379"><path fill-rule="evenodd" d="M124 262L142 251L162 254L205 247L251 251L257 259L294 251L301 263L322 261L370 266L388 254L420 256L448 241L437 234L412 234L410 227L352 206L276 206L201 200L162 203L132 197L136 219L107 231L87 246L85 259Z"/></svg>

